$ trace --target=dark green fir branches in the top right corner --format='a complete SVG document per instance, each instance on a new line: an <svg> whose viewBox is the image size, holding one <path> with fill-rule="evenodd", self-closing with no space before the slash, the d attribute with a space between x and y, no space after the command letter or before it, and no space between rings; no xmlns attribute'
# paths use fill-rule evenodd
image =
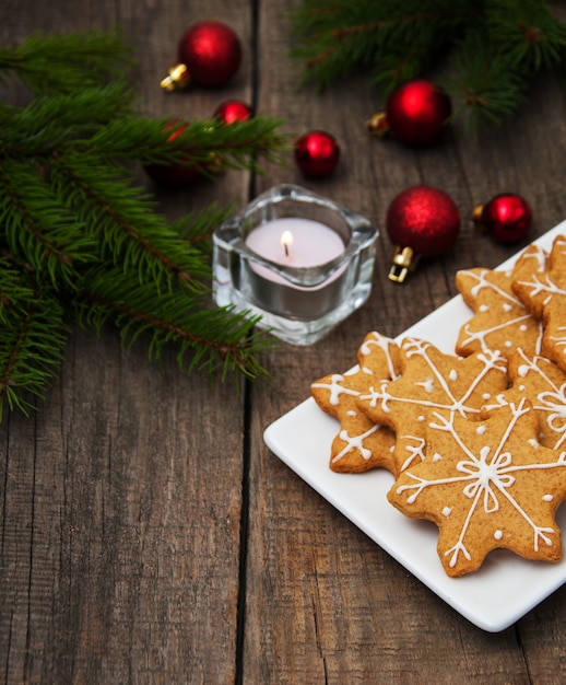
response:
<svg viewBox="0 0 566 685"><path fill-rule="evenodd" d="M387 96L433 78L473 124L500 123L536 74L566 71L566 24L544 0L304 0L291 20L303 82L365 71Z"/></svg>

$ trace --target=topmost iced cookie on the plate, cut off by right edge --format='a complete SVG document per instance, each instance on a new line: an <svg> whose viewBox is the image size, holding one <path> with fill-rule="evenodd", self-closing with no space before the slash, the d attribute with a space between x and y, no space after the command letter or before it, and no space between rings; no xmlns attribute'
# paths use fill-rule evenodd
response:
<svg viewBox="0 0 566 685"><path fill-rule="evenodd" d="M517 269L512 289L543 322L542 355L566 371L566 236L554 240L543 271Z"/></svg>

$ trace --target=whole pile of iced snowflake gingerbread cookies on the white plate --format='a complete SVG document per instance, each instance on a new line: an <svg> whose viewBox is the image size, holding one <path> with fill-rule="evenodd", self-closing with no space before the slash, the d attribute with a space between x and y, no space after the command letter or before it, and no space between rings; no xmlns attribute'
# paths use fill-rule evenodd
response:
<svg viewBox="0 0 566 685"><path fill-rule="evenodd" d="M448 576L506 548L557 561L566 499L566 236L510 271L459 271L472 316L453 355L370 333L357 364L311 385L337 418L330 468L394 476L388 499L439 529Z"/></svg>

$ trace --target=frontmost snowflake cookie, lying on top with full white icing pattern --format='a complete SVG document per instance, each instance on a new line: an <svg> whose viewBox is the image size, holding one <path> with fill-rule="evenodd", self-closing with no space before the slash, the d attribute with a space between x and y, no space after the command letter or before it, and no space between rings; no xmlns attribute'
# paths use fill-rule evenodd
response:
<svg viewBox="0 0 566 685"><path fill-rule="evenodd" d="M566 498L566 452L543 448L530 403L508 403L481 421L434 414L426 458L406 469L388 494L405 515L434 521L448 576L477 570L496 548L557 561L554 520Z"/></svg>

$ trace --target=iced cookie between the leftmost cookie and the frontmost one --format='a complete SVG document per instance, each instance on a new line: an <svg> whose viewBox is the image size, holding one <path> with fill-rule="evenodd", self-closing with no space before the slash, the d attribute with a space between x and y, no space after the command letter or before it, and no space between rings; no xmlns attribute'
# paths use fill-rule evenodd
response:
<svg viewBox="0 0 566 685"><path fill-rule="evenodd" d="M397 473L424 457L425 428L433 411L447 418L452 414L479 418L482 405L508 385L507 361L498 352L456 357L415 338L405 338L401 352L401 376L370 383L357 398L374 422L394 431Z"/></svg>

